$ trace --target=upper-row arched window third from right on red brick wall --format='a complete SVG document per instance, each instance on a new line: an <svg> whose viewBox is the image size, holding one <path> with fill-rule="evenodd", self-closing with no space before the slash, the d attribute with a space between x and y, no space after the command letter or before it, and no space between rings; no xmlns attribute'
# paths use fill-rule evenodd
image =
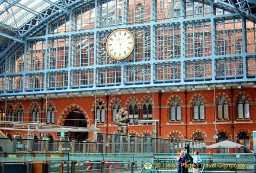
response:
<svg viewBox="0 0 256 173"><path fill-rule="evenodd" d="M194 100L194 118L193 120L204 120L204 103L201 97L196 97Z"/></svg>

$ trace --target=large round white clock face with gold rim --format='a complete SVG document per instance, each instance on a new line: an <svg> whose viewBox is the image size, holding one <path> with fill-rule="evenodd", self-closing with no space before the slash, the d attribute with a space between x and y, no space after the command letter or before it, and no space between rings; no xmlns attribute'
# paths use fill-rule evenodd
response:
<svg viewBox="0 0 256 173"><path fill-rule="evenodd" d="M131 31L119 28L108 35L105 46L111 58L123 60L132 54L135 48L135 37Z"/></svg>

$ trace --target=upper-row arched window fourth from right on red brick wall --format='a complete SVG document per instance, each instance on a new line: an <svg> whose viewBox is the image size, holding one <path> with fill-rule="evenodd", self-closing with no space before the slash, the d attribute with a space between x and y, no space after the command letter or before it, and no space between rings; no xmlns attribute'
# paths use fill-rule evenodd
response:
<svg viewBox="0 0 256 173"><path fill-rule="evenodd" d="M171 121L180 121L181 120L181 105L178 101L178 98L175 97L171 101L171 105L169 107L169 122Z"/></svg>

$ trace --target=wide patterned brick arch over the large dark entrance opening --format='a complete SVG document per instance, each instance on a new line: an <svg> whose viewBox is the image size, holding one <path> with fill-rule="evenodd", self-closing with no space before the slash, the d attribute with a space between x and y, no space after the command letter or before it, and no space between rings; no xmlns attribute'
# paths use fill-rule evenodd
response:
<svg viewBox="0 0 256 173"><path fill-rule="evenodd" d="M73 110L78 110L79 112L81 112L85 116L85 119L87 120L87 126L89 127L90 126L90 124L89 124L90 122L89 122L89 117L88 117L87 113L85 112L85 110L81 106L76 105L75 103L67 106L65 109L62 110L62 113L60 113L59 119L57 120L57 125L63 126L64 123L65 123L66 117Z"/></svg>

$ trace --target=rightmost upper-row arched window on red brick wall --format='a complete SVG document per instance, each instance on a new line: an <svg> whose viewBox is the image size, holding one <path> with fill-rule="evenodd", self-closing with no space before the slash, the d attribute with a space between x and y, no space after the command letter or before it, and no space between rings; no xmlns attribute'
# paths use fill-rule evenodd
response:
<svg viewBox="0 0 256 173"><path fill-rule="evenodd" d="M249 119L249 102L247 96L242 94L238 99L238 119Z"/></svg>

